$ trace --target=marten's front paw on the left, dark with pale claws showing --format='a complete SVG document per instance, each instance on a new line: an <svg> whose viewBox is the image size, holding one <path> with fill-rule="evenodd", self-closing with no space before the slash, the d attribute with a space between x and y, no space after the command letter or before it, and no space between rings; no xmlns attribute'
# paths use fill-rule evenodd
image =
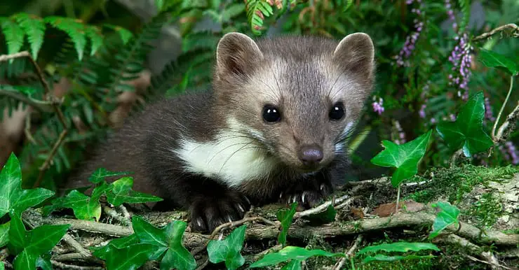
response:
<svg viewBox="0 0 519 270"><path fill-rule="evenodd" d="M191 229L196 232L213 232L223 223L241 220L249 209L250 201L238 192L199 197L191 204Z"/></svg>

